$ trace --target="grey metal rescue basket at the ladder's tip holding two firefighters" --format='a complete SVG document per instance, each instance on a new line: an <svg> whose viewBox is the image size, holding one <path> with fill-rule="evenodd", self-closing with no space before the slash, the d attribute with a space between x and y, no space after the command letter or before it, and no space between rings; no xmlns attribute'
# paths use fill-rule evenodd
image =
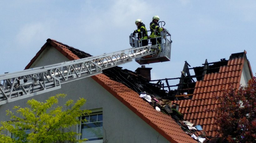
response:
<svg viewBox="0 0 256 143"><path fill-rule="evenodd" d="M148 31L149 32L149 31ZM136 38L138 35L130 35L129 41L131 47L137 48L142 47L142 39ZM157 63L157 62L165 62L170 61L171 58L171 34L167 29L164 29L160 32L160 36L155 36L156 38L148 38L148 46L151 47L151 50L154 51L150 55L138 57L135 59L137 63L140 65ZM152 42L155 40L156 45L152 45ZM158 42L157 42L158 41Z"/></svg>

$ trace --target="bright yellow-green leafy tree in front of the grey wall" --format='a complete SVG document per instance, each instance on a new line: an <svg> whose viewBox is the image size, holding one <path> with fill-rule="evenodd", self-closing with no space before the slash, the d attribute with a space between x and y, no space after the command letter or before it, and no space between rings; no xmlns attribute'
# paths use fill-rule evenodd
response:
<svg viewBox="0 0 256 143"><path fill-rule="evenodd" d="M14 107L19 116L7 110L7 115L11 116L12 121L1 122L0 141L2 143L73 143L85 141L86 139L76 139L78 133L73 132L72 127L74 128L80 123L79 117L89 114L91 111L80 109L86 102L84 98L80 98L76 103L73 100L66 101L65 109L63 109L57 104L58 98L65 96L65 94L57 94L49 97L46 102L28 100L29 107ZM30 133L26 134L25 129L30 129ZM14 138L6 136L4 134L6 131L11 132Z"/></svg>

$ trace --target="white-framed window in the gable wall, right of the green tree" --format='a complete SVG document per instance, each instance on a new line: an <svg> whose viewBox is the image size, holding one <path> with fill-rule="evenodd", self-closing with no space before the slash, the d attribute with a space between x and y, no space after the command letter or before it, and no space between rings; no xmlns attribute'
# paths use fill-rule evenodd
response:
<svg viewBox="0 0 256 143"><path fill-rule="evenodd" d="M86 119L86 122L81 121L81 139L88 139L88 141L102 141L103 140L103 118L102 112L91 113L83 116L81 119ZM87 141L86 141L87 142Z"/></svg>

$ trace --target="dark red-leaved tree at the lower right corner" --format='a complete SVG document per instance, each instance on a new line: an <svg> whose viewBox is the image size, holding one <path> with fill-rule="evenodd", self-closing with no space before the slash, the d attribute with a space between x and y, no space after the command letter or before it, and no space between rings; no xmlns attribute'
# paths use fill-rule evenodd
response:
<svg viewBox="0 0 256 143"><path fill-rule="evenodd" d="M238 91L230 86L216 97L220 106L215 109L217 136L213 142L256 142L256 79Z"/></svg>

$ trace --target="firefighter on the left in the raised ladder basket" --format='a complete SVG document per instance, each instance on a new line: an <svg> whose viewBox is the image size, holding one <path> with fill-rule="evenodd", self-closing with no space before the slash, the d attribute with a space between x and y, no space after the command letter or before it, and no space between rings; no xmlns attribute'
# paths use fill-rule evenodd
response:
<svg viewBox="0 0 256 143"><path fill-rule="evenodd" d="M142 40L141 45L142 46L147 46L148 45L148 32L145 27L145 24L142 23L141 19L135 20L135 25L137 25L137 30L134 30L132 33L135 35L135 33L138 33L138 39Z"/></svg>

